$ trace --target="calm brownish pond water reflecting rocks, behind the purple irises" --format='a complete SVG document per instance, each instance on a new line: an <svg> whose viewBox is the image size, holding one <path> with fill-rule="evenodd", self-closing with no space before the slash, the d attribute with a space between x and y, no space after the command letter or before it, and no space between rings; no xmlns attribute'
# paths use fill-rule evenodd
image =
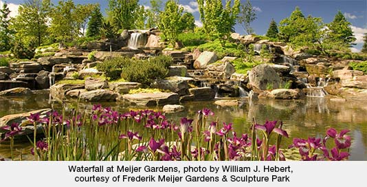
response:
<svg viewBox="0 0 367 187"><path fill-rule="evenodd" d="M71 103L73 104L73 103ZM75 103L74 103L75 104ZM82 103L91 109L92 103ZM183 112L168 114L168 118L179 123L179 118L196 118L197 111L203 107L212 109L215 115L209 120L219 122L232 122L237 133L248 133L252 118L263 124L265 120L282 120L283 129L289 133L289 139L283 139L282 147L291 144L293 137L322 137L326 129L333 127L340 131L350 129L352 137L351 160L367 160L367 101L364 100L335 100L329 98L305 98L304 100L259 100L249 102L247 98L237 107L220 107L214 101L208 102L186 102ZM142 109L129 107L118 102L102 103L103 107L124 112L131 109ZM3 115L22 113L36 109L54 107L61 110L62 105L50 104L47 93L38 93L26 97L0 97L0 117ZM70 104L67 104L69 109ZM151 108L155 110L162 107ZM16 145L18 151L22 151L23 159L31 159L30 144L19 142ZM7 144L0 144L0 157L10 157L10 148Z"/></svg>

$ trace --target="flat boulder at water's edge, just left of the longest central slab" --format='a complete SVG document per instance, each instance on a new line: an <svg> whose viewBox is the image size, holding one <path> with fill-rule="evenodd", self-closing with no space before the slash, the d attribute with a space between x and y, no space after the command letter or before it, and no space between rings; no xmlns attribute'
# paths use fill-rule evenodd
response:
<svg viewBox="0 0 367 187"><path fill-rule="evenodd" d="M90 102L115 101L116 98L118 98L118 94L107 89L98 89L80 93L81 100L87 100Z"/></svg>

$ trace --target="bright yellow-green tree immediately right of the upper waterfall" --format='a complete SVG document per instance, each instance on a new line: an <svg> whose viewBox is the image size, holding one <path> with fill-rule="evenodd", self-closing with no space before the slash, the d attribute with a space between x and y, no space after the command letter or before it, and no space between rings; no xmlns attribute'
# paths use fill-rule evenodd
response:
<svg viewBox="0 0 367 187"><path fill-rule="evenodd" d="M175 0L168 0L164 11L159 14L158 28L164 35L164 38L173 46L175 46L179 32L182 31L180 26L183 24L182 18L183 8Z"/></svg>

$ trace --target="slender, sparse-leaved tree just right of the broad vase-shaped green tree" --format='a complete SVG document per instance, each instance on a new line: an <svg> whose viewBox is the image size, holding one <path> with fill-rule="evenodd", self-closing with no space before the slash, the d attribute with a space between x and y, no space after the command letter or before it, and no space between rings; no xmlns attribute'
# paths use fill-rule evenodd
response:
<svg viewBox="0 0 367 187"><path fill-rule="evenodd" d="M256 19L256 12L252 7L249 0L246 1L245 5L241 5L240 12L238 14L238 23L241 24L247 34L253 34L254 30L251 28L251 22Z"/></svg>

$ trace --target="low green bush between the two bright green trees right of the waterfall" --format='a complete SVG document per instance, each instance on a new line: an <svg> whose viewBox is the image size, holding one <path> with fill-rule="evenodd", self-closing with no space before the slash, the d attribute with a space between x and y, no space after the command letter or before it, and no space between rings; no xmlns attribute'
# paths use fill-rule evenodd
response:
<svg viewBox="0 0 367 187"><path fill-rule="evenodd" d="M182 32L178 36L178 40L183 43L184 46L198 46L206 43L206 36L203 32Z"/></svg>

